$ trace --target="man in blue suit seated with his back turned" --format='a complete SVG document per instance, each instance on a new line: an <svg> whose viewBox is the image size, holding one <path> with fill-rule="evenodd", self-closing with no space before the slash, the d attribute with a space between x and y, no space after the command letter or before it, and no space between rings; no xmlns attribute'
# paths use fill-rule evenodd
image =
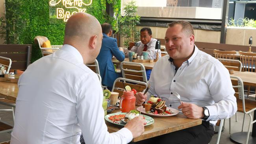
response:
<svg viewBox="0 0 256 144"><path fill-rule="evenodd" d="M118 48L117 39L110 37L112 34L112 26L110 24L104 23L101 25L101 28L103 39L100 54L96 59L100 67L102 85L106 85L111 90L115 79L122 77L120 73L115 72L112 57L114 55L117 60L124 61L124 50Z"/></svg>

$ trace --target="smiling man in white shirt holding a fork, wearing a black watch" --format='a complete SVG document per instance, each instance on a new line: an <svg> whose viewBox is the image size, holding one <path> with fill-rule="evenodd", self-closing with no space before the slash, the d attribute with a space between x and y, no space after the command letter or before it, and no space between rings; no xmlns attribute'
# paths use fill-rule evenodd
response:
<svg viewBox="0 0 256 144"><path fill-rule="evenodd" d="M153 139L158 143L208 144L217 120L230 118L237 111L234 89L228 70L217 59L194 44L195 36L189 22L169 24L165 48L169 55L154 65L147 95L139 93L136 102L143 103L157 94L168 106L180 109L187 118L202 118L199 126L183 129ZM180 100L172 91L180 94Z"/></svg>

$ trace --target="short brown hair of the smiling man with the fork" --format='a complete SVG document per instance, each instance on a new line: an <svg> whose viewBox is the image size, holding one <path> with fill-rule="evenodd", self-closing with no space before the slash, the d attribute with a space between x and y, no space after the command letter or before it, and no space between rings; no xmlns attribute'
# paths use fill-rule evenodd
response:
<svg viewBox="0 0 256 144"><path fill-rule="evenodd" d="M173 27L173 26L175 26L177 24L182 26L182 31L184 31L187 34L188 37L191 34L195 35L192 25L189 22L187 22L187 21L184 21L184 20L174 21L174 22L171 22L170 24L168 24L168 26L169 27Z"/></svg>

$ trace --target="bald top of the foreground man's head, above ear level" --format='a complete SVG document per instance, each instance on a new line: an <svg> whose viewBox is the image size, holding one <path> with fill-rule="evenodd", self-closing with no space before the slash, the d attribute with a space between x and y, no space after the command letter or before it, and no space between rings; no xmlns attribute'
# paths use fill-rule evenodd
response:
<svg viewBox="0 0 256 144"><path fill-rule="evenodd" d="M65 38L68 39L89 39L92 35L101 32L98 20L88 13L76 13L67 21L65 28Z"/></svg>

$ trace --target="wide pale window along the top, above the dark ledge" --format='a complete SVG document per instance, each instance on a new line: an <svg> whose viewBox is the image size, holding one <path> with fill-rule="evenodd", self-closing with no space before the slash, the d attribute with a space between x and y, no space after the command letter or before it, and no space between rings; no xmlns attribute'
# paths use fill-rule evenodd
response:
<svg viewBox="0 0 256 144"><path fill-rule="evenodd" d="M122 0L122 7L132 0ZM133 0L140 17L221 20L223 0ZM124 11L122 11L122 15Z"/></svg>

